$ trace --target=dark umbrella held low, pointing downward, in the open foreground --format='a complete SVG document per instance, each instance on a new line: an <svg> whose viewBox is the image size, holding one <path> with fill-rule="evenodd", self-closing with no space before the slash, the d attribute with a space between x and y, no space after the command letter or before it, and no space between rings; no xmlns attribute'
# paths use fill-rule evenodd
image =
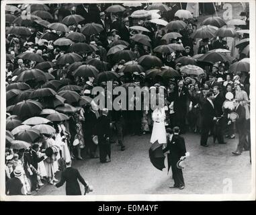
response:
<svg viewBox="0 0 256 215"><path fill-rule="evenodd" d="M163 155L163 146L158 141L151 145L148 150L149 159L154 167L163 171L165 168L165 155Z"/></svg>

